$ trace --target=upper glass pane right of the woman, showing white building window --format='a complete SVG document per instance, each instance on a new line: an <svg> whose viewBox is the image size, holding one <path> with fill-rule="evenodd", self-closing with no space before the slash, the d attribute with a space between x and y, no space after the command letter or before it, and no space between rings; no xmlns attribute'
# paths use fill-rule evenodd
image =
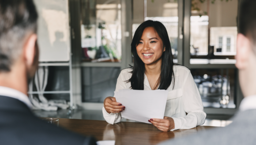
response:
<svg viewBox="0 0 256 145"><path fill-rule="evenodd" d="M233 63L232 59L236 55L238 1L191 0L191 5L191 59L219 59L222 63ZM192 60L198 64L204 60L201 61Z"/></svg>

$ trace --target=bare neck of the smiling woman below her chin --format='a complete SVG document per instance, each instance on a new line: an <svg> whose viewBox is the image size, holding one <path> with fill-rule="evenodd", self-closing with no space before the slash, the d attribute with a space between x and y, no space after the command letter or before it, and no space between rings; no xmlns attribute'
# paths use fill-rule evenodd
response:
<svg viewBox="0 0 256 145"><path fill-rule="evenodd" d="M162 58L153 64L145 64L145 74L150 76L160 75L161 73Z"/></svg>

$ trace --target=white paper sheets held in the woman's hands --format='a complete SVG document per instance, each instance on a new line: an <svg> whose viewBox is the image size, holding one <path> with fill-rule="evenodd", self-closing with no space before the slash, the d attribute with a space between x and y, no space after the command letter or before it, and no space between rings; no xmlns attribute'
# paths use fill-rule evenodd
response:
<svg viewBox="0 0 256 145"><path fill-rule="evenodd" d="M167 96L167 90L124 89L115 92L114 97L125 106L125 110L121 112L122 117L149 123L151 118L164 118Z"/></svg>

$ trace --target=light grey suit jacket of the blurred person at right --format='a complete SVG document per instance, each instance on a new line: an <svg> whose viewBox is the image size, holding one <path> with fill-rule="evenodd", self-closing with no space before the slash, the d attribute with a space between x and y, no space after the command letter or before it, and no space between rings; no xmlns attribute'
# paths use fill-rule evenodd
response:
<svg viewBox="0 0 256 145"><path fill-rule="evenodd" d="M226 127L202 131L160 145L256 145L256 109L239 112Z"/></svg>

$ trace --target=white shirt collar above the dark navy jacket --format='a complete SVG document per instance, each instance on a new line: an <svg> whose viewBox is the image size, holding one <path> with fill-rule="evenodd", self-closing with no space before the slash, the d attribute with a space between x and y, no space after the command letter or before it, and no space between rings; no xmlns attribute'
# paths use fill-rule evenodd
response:
<svg viewBox="0 0 256 145"><path fill-rule="evenodd" d="M26 94L23 94L20 91L17 91L9 87L0 86L0 95L18 99L19 101L25 103L30 109L32 108L32 104L29 98L26 96Z"/></svg>

